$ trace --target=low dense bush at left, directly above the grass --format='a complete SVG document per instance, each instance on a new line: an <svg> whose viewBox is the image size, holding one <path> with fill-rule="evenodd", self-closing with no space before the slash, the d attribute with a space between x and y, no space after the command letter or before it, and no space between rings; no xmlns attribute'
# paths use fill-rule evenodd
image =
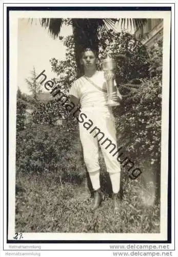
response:
<svg viewBox="0 0 178 257"><path fill-rule="evenodd" d="M78 155L78 151L81 151L81 154ZM78 135L71 133L67 125L64 128L33 124L17 133L17 173L49 173L64 181L71 181L79 176L78 170L81 170L81 173L85 170L80 156L82 149Z"/></svg>

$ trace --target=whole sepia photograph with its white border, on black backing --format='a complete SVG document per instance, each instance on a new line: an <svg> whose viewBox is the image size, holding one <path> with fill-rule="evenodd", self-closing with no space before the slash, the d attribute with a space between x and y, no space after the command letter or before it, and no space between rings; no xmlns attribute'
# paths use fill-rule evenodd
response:
<svg viewBox="0 0 178 257"><path fill-rule="evenodd" d="M170 12L37 13L15 23L9 226L166 240Z"/></svg>

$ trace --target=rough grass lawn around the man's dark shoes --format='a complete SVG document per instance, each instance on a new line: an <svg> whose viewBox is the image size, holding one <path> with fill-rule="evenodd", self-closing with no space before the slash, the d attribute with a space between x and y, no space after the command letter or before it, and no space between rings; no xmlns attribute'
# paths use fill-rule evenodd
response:
<svg viewBox="0 0 178 257"><path fill-rule="evenodd" d="M112 213L105 193L91 212L92 198L77 183L61 183L51 175L16 175L16 232L159 233L160 204L141 190L138 180L126 179L120 214ZM145 198L144 198L145 197Z"/></svg>

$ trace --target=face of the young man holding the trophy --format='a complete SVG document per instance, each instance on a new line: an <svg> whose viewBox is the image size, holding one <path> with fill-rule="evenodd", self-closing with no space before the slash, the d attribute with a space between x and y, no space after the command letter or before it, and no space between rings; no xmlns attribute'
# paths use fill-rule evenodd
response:
<svg viewBox="0 0 178 257"><path fill-rule="evenodd" d="M81 64L83 64L84 69L93 70L96 69L96 60L94 52L86 51L82 54Z"/></svg>

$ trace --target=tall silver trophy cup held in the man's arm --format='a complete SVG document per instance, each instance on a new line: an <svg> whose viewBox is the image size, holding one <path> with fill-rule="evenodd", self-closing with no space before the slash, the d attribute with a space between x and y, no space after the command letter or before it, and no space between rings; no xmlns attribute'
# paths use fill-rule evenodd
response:
<svg viewBox="0 0 178 257"><path fill-rule="evenodd" d="M119 102L113 101L111 99L111 94L117 91L117 87L114 86L114 79L115 79L115 60L110 58L109 56L103 60L102 63L103 70L104 70L104 77L106 79L107 84L107 91L108 91L108 101L107 106L117 106L120 105Z"/></svg>

